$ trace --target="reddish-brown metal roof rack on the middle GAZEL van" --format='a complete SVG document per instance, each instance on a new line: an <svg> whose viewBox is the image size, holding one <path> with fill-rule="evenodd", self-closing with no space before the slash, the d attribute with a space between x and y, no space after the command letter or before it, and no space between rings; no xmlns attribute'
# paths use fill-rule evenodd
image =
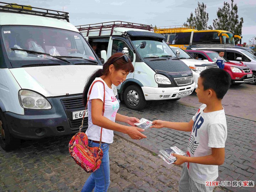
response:
<svg viewBox="0 0 256 192"><path fill-rule="evenodd" d="M78 31L87 31L86 36L89 35L90 30L99 31L99 36L101 35L102 31L111 31L110 36L112 36L114 27L126 27L126 28L142 29L142 30L148 30L148 31L151 31L153 29L152 25L143 25L139 23L125 22L125 21L110 21L110 22L76 26Z"/></svg>

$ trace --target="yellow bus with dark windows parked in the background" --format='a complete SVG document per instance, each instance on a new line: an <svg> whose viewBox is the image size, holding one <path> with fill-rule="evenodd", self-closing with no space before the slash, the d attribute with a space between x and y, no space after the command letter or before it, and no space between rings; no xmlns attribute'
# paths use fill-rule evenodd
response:
<svg viewBox="0 0 256 192"><path fill-rule="evenodd" d="M155 27L155 33L161 33L167 44L186 49L193 44L231 44L235 45L234 38L241 37L223 30L196 30L190 26Z"/></svg>

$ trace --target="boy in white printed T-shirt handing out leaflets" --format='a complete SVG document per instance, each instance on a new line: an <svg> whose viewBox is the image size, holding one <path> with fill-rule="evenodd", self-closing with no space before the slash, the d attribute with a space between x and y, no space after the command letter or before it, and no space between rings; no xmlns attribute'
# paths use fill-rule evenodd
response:
<svg viewBox="0 0 256 192"><path fill-rule="evenodd" d="M199 102L203 105L188 123L153 121L151 127L167 127L191 132L187 156L173 154L177 158L174 164L185 162L180 180L180 192L213 191L206 181L218 177L218 165L225 159L225 141L227 125L222 98L230 86L229 74L219 68L201 72L196 89Z"/></svg>

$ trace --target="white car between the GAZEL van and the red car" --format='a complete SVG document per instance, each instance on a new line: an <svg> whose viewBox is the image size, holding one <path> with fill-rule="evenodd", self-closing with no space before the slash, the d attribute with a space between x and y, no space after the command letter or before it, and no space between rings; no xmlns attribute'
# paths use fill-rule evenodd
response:
<svg viewBox="0 0 256 192"><path fill-rule="evenodd" d="M174 52L174 54L180 58L193 72L194 76L194 82L195 82L195 89L197 88L197 81L200 76L200 73L208 68L218 68L218 65L214 62L209 62L208 60L198 60L198 59L193 59L190 54L188 54L185 50L179 48L179 47L174 47L174 46L169 46L171 50Z"/></svg>

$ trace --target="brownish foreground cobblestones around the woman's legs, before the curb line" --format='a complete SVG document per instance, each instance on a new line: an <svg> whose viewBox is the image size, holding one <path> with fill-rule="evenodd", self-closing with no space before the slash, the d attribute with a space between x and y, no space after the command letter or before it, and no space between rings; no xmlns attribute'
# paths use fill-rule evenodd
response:
<svg viewBox="0 0 256 192"><path fill-rule="evenodd" d="M68 135L26 141L9 153L0 149L0 192L81 191L90 174L71 159L70 139ZM109 192L178 191L180 166L167 165L158 156L117 136L109 151Z"/></svg>

